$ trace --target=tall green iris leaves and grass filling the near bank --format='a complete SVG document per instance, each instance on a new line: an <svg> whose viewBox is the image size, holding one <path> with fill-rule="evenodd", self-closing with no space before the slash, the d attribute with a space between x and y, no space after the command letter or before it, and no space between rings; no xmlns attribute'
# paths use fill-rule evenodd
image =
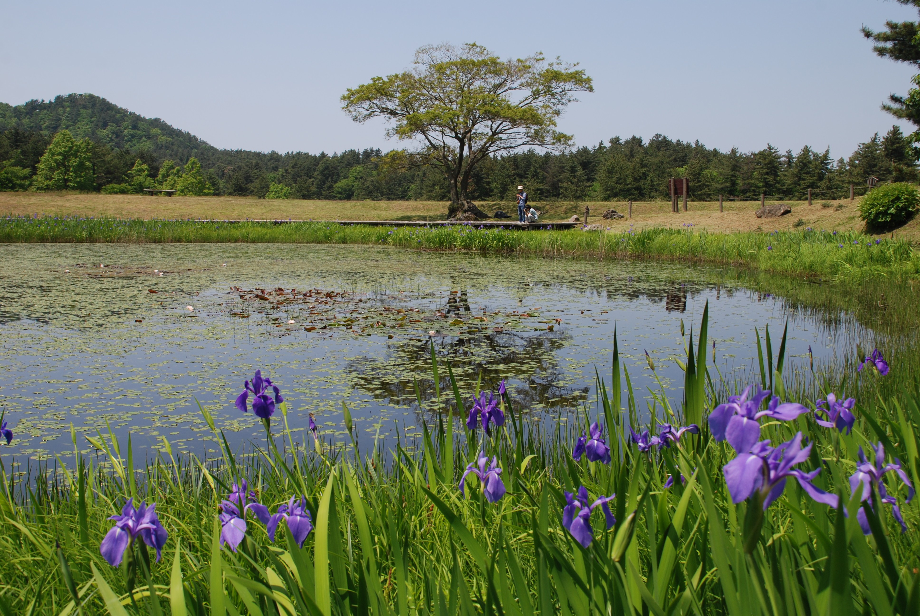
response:
<svg viewBox="0 0 920 616"><path fill-rule="evenodd" d="M862 491L852 492L847 478L858 448L881 443L883 462L900 459L905 477L920 479L920 394L899 366L888 377L867 369L860 378L895 378L904 387L897 400L858 400L852 433L817 424L813 413L765 417L759 438L777 446L800 432L812 443L811 455L795 466L820 470L810 485L842 495L842 505L816 502L794 477L777 487L781 497L769 506L760 492L734 503L731 490L738 488L730 490L722 468L737 455L714 439L706 418L724 401L719 390L738 391L706 366L705 331L706 317L695 328L698 349L691 345L686 358L686 403L673 408L657 399L650 425L637 422L628 372L614 352L608 382L598 381L596 399L581 416L557 422L525 413L509 391L501 398L503 424L492 424L489 435L440 415L421 424L421 437L360 451L294 435L280 406L267 424L274 446L254 443L246 454L225 447L207 414L211 434L202 436L221 450L212 459L176 457L166 438L160 454L145 460L134 457L130 439L94 436L89 451L78 451L86 444L75 439L77 461L69 468L0 473L0 613L914 614L918 501L908 503L906 486L889 473L887 494L906 530L873 484L877 505L863 506L866 536L857 516ZM778 386L782 350L776 362L764 359L753 380L776 378L779 392L795 389ZM448 370L437 366L432 350L432 372ZM443 391L467 410L477 393L459 390L452 378ZM6 419L15 430L16 418ZM578 436L593 421L606 426L610 459L603 448L592 449L599 459L573 459ZM631 441L630 429L660 435L660 422L702 429L669 447L640 450ZM469 475L462 493L458 482L468 464L477 468L480 452L495 457L503 490L494 474L489 490ZM225 499L244 478L252 499L271 513L302 495L311 531L304 537L302 517L295 539L282 520L272 541L251 513L241 526ZM609 496L614 519L596 506L577 518L580 529L569 524L565 507L573 499L566 493L580 487L586 506ZM117 568L100 554L114 524L109 517L128 498L156 504L167 535L158 563L141 538ZM245 529L236 552L222 545L222 533L232 538L234 526Z"/></svg>

